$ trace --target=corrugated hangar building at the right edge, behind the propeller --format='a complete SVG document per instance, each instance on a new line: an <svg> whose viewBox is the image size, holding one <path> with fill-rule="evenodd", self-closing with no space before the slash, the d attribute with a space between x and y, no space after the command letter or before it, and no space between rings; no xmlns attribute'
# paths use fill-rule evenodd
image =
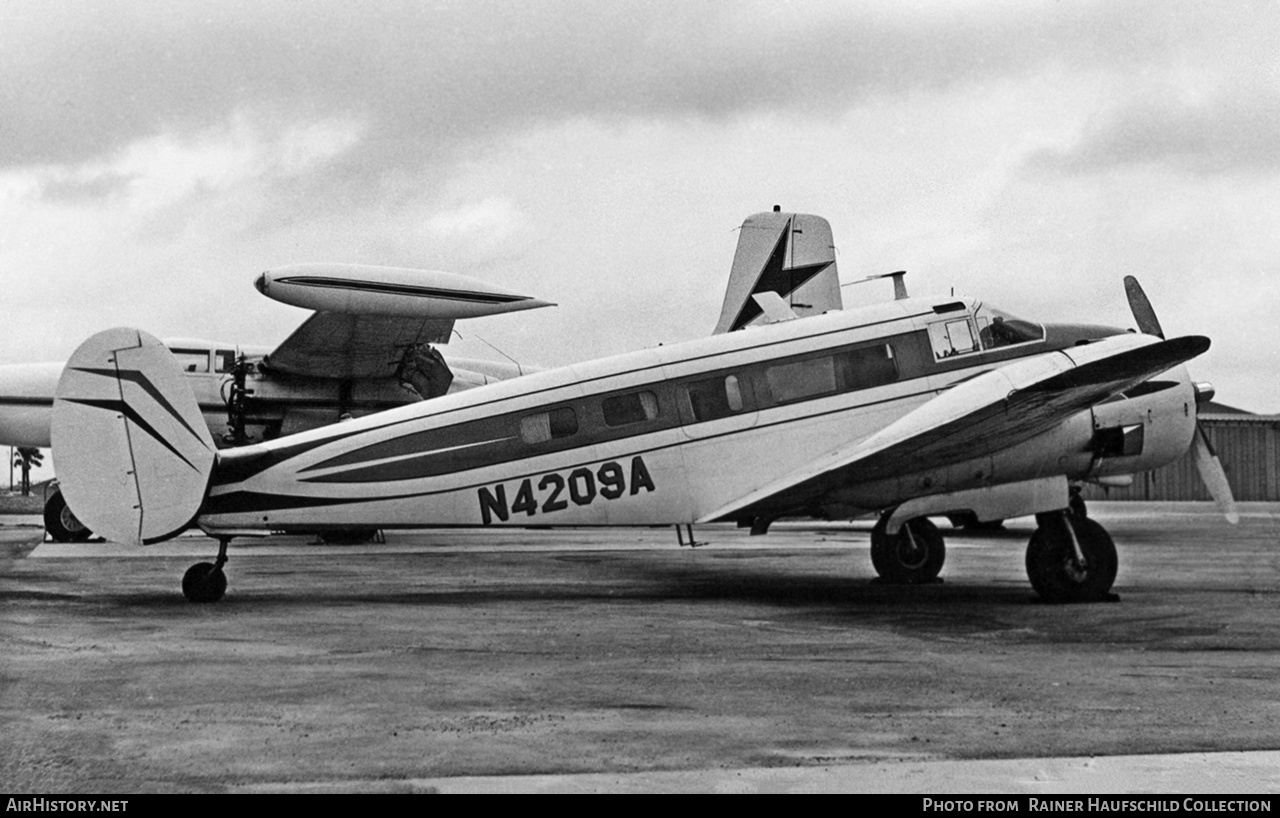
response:
<svg viewBox="0 0 1280 818"><path fill-rule="evenodd" d="M1199 415L1210 445L1238 501L1280 501L1280 415L1253 415L1210 403ZM1164 469L1134 475L1126 488L1087 485L1084 498L1110 501L1211 501L1190 452Z"/></svg>

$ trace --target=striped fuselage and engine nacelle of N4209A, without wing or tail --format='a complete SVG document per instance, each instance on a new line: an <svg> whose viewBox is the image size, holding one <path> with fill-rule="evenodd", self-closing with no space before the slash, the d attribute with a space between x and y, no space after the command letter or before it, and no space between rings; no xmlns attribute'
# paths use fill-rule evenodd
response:
<svg viewBox="0 0 1280 818"><path fill-rule="evenodd" d="M996 324L992 333L974 300L900 300L572 365L224 451L198 525L219 534L708 521L957 383L1124 334ZM787 512L852 515L1048 474L1155 467L1185 452L1194 424L1185 371L1161 379L1166 385L1149 394L975 453L982 469L869 479L832 492L820 507ZM1112 426L1100 443L1100 429Z"/></svg>

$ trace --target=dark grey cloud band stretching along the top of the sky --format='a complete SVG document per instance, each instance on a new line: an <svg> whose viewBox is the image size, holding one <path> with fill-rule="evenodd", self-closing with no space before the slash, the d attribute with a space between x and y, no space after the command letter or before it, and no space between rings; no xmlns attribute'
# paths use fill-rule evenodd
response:
<svg viewBox="0 0 1280 818"><path fill-rule="evenodd" d="M343 179L376 183L580 116L838 115L877 95L1167 45L1142 26L1164 5L1116 5L18 0L0 9L0 70L28 81L0 87L0 156L78 164L233 115L358 119L361 173Z"/></svg>

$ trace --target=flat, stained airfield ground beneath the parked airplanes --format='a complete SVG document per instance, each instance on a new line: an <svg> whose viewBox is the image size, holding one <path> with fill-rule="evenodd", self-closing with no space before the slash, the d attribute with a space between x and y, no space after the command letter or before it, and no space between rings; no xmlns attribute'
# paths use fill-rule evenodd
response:
<svg viewBox="0 0 1280 818"><path fill-rule="evenodd" d="M945 581L919 588L872 582L859 524L707 527L696 549L669 529L274 538L234 543L225 599L195 605L180 576L211 540L32 549L10 520L0 781L840 768L858 789L920 762L1280 749L1280 508L1235 527L1204 506L1093 516L1120 545L1117 603L1037 604L1030 521L948 533Z"/></svg>

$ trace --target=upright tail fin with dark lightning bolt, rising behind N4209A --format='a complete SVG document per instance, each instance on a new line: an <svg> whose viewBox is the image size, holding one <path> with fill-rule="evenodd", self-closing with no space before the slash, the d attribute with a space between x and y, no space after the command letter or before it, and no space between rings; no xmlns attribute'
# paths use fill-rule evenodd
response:
<svg viewBox="0 0 1280 818"><path fill-rule="evenodd" d="M753 294L778 293L800 317L844 309L831 224L803 213L758 213L742 223L724 306L713 334L742 329L762 310Z"/></svg>

